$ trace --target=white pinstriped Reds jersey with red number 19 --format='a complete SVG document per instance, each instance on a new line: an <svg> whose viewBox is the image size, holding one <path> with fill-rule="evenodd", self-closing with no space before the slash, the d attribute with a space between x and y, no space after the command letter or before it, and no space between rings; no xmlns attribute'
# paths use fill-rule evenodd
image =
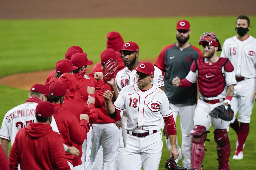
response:
<svg viewBox="0 0 256 170"><path fill-rule="evenodd" d="M154 84L145 92L137 83L125 86L114 105L127 117L126 130L160 130L161 117L172 115L165 92Z"/></svg>

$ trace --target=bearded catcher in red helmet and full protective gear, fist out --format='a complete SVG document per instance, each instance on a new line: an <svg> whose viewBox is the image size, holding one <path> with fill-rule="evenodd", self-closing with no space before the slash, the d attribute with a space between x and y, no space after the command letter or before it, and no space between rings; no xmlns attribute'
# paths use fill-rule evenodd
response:
<svg viewBox="0 0 256 170"><path fill-rule="evenodd" d="M214 140L217 143L219 170L229 169L230 145L227 131L229 122L220 118L213 118L208 114L223 103L230 104L236 84L234 67L226 58L219 58L217 51L221 51L218 37L213 32L204 32L199 45L203 46L204 58L193 61L189 74L185 79L173 78L175 87L189 87L198 82L199 100L195 108L194 129L191 146L191 169L201 170L201 163L205 154L205 140L209 128L213 124ZM225 99L226 98L226 99Z"/></svg>

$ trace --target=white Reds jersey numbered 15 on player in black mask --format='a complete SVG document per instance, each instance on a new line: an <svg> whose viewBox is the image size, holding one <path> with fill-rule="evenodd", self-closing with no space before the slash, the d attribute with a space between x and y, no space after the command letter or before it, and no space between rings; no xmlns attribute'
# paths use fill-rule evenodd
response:
<svg viewBox="0 0 256 170"><path fill-rule="evenodd" d="M237 36L226 39L221 57L229 58L234 66L235 76L256 78L256 39L249 36L240 41Z"/></svg>

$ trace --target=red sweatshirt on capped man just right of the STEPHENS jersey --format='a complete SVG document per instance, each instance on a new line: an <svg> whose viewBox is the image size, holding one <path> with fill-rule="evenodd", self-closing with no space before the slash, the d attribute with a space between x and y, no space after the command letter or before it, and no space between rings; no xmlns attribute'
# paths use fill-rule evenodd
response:
<svg viewBox="0 0 256 170"><path fill-rule="evenodd" d="M77 145L82 145L87 138L87 121L82 119L80 124L72 112L66 111L60 104L53 104L58 113L53 114L56 124L61 133L64 143L68 146L73 146L73 142ZM75 155L66 153L66 158L72 163Z"/></svg>

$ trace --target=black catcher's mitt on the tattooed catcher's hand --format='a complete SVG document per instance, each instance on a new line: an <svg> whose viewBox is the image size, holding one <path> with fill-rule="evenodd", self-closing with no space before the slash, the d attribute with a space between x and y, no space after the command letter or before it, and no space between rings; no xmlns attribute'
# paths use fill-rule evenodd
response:
<svg viewBox="0 0 256 170"><path fill-rule="evenodd" d="M221 118L225 121L231 121L234 117L234 111L231 109L230 104L224 103L215 107L209 115L214 118Z"/></svg>

